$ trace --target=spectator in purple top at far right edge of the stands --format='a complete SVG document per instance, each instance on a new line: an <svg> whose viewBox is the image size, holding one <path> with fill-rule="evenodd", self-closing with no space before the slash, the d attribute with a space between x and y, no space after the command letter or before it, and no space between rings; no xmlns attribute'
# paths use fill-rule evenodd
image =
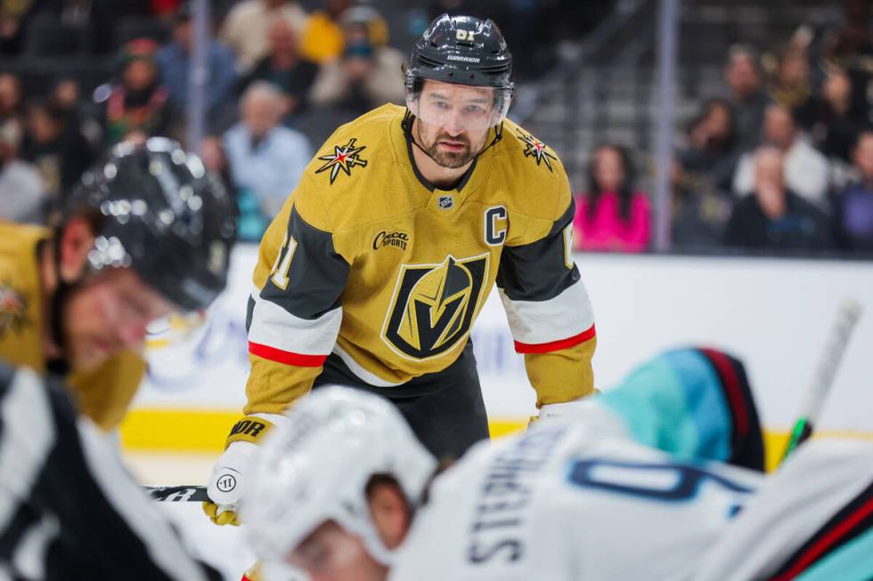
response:
<svg viewBox="0 0 873 581"><path fill-rule="evenodd" d="M858 182L836 197L837 237L840 247L873 254L873 130L858 137L853 151Z"/></svg>

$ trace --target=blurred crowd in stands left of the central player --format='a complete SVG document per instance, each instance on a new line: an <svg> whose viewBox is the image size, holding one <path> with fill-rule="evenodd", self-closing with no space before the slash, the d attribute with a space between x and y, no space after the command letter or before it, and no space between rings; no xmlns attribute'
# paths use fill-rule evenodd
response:
<svg viewBox="0 0 873 581"><path fill-rule="evenodd" d="M211 4L208 135L196 146L237 195L242 237L257 240L337 125L403 103L404 54L389 44L379 12L354 0L326 0L312 12L290 0ZM184 142L194 26L192 4L179 0L0 0L6 58L75 51L98 59L112 51L113 21L128 17L139 20L115 51L116 74L93 93L61 75L47 94L25 94L21 76L0 69L0 218L44 222L119 141ZM58 44L68 34L75 42Z"/></svg>

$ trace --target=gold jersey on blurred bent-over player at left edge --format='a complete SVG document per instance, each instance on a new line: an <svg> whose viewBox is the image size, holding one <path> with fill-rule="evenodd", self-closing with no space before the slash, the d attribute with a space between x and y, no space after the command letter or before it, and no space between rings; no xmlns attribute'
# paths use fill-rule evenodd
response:
<svg viewBox="0 0 873 581"><path fill-rule="evenodd" d="M45 373L37 246L48 230L0 222L0 359ZM121 423L145 373L145 360L122 351L102 366L70 373L64 383L79 412L104 430Z"/></svg>

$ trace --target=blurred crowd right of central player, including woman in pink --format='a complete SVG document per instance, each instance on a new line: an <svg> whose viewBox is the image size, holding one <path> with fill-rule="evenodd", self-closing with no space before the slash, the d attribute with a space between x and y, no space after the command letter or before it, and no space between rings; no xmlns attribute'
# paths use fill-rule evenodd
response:
<svg viewBox="0 0 873 581"><path fill-rule="evenodd" d="M801 28L773 52L730 49L728 93L705 101L675 150L673 247L873 256L873 27L869 2L844 9L818 42ZM589 173L576 248L649 249L631 156L601 146Z"/></svg>

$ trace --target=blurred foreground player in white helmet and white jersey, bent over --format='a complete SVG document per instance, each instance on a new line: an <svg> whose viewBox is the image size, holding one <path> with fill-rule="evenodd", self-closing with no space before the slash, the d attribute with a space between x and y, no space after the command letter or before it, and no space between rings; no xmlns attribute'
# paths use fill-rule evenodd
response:
<svg viewBox="0 0 873 581"><path fill-rule="evenodd" d="M873 576L873 443L812 441L768 479L743 367L718 351L668 352L436 477L360 391L314 393L275 433L242 517L265 561L317 581Z"/></svg>

